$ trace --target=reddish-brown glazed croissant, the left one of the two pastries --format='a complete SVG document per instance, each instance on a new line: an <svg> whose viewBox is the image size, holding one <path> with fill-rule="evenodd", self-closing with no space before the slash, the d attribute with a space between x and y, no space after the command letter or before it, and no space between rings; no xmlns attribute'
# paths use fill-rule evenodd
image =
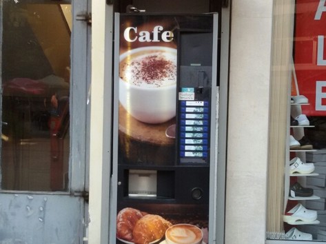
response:
<svg viewBox="0 0 326 244"><path fill-rule="evenodd" d="M134 225L140 218L145 216L145 212L135 210L132 207L126 207L116 216L116 237L125 241L134 242L132 231Z"/></svg>

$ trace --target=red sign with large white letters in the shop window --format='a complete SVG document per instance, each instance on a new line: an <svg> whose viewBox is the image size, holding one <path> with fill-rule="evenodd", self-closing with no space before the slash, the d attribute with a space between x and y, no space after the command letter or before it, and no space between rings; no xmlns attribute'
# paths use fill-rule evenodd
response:
<svg viewBox="0 0 326 244"><path fill-rule="evenodd" d="M326 6L325 0L297 0L294 31L292 95L309 99L303 114L326 116ZM295 94L296 93L296 94Z"/></svg>

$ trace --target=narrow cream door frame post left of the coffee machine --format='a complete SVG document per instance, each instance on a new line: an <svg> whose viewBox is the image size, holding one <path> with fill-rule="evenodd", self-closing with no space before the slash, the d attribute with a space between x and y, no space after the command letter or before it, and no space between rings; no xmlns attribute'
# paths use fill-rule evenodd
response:
<svg viewBox="0 0 326 244"><path fill-rule="evenodd" d="M90 225L88 243L109 243L111 188L113 3L92 0Z"/></svg>

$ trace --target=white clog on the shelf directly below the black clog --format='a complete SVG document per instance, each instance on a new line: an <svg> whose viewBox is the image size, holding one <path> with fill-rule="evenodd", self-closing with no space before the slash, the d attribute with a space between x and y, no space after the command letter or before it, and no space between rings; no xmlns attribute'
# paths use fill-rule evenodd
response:
<svg viewBox="0 0 326 244"><path fill-rule="evenodd" d="M283 221L295 224L296 221L312 222L317 219L317 211L307 210L301 203L298 203L292 210L283 215Z"/></svg>

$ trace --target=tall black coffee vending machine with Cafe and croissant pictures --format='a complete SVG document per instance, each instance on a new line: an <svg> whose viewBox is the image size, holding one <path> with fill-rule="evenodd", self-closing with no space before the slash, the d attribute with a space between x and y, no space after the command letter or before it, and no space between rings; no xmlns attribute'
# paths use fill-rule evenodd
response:
<svg viewBox="0 0 326 244"><path fill-rule="evenodd" d="M216 243L217 29L116 13L110 243Z"/></svg>

